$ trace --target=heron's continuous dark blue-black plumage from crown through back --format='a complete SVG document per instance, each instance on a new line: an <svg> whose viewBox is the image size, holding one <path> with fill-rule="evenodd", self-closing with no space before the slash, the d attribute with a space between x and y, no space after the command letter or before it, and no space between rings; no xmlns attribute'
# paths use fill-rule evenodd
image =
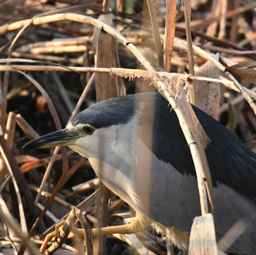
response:
<svg viewBox="0 0 256 255"><path fill-rule="evenodd" d="M144 105L142 112L135 109L138 102ZM211 140L206 148L206 157L214 186L219 181L246 197L256 198L255 153L210 115L197 107L193 109ZM160 94L150 92L121 96L94 104L85 111L86 118L83 112L78 114L72 123L74 126L89 123L99 129L127 123L136 111L144 126L144 138L147 137L147 126L152 126L151 114L154 113L152 146L146 138L144 142L158 159L172 164L183 175L195 175L192 156L176 113Z"/></svg>

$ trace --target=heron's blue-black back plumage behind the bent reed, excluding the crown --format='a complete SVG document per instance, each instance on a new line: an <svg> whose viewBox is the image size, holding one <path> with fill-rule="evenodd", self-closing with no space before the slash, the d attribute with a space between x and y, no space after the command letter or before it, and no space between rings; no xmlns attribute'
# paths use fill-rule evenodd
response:
<svg viewBox="0 0 256 255"><path fill-rule="evenodd" d="M246 197L256 198L256 154L221 123L193 106L211 140L206 157L214 186L225 183ZM192 156L174 110L162 96L156 96L153 152L158 159L173 164L183 174L195 175ZM169 146L165 146L169 143Z"/></svg>

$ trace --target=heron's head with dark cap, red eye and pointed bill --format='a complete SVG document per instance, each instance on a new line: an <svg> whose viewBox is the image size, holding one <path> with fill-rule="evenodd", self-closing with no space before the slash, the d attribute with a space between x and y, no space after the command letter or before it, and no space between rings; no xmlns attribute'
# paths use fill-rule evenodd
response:
<svg viewBox="0 0 256 255"><path fill-rule="evenodd" d="M65 129L45 134L23 148L67 146L86 158L96 157L115 145L121 129L128 129L134 117L133 104L133 96L99 102L79 113Z"/></svg>

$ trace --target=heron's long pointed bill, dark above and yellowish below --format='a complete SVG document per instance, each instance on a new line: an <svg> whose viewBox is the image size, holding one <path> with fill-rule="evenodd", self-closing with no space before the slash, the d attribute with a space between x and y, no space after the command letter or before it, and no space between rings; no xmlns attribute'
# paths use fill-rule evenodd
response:
<svg viewBox="0 0 256 255"><path fill-rule="evenodd" d="M70 145L80 137L82 137L82 135L78 131L74 132L69 129L61 129L34 139L24 145L23 148L50 148Z"/></svg>

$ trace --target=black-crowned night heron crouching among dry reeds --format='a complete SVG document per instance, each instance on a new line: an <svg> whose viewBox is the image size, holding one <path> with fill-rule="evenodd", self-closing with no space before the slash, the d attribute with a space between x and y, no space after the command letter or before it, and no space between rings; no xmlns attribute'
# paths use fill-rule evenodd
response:
<svg viewBox="0 0 256 255"><path fill-rule="evenodd" d="M206 157L214 185L217 240L242 219L246 230L228 251L256 254L256 155L214 118L194 110L211 140ZM99 179L136 211L144 226L189 232L193 218L200 216L189 147L176 113L159 94L99 102L66 129L26 147L57 145L88 158Z"/></svg>

